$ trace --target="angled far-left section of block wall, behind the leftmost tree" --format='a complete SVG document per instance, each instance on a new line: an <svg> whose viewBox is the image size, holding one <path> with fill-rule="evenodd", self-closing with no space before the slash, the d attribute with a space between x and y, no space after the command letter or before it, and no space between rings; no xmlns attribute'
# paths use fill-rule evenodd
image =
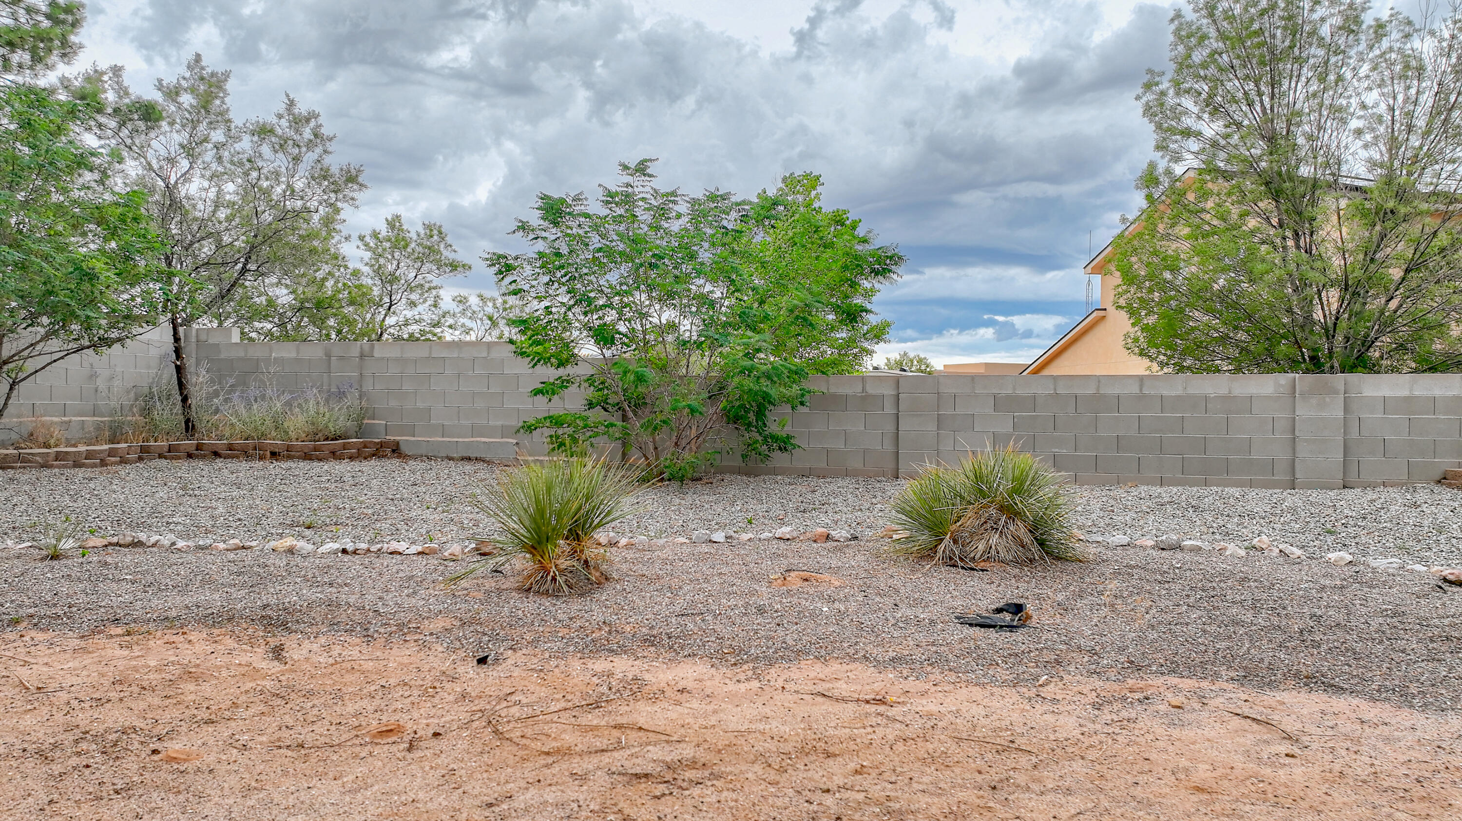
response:
<svg viewBox="0 0 1462 821"><path fill-rule="evenodd" d="M16 392L0 422L0 444L25 435L35 419L54 422L70 438L95 435L105 419L126 413L171 362L171 335L155 327L108 354L82 354L51 365Z"/></svg>

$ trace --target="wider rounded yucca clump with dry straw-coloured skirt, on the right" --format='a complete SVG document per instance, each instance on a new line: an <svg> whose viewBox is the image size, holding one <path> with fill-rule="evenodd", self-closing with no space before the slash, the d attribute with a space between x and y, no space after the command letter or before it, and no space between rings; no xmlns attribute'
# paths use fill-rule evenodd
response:
<svg viewBox="0 0 1462 821"><path fill-rule="evenodd" d="M928 465L892 507L893 524L908 533L893 546L904 555L956 567L1085 558L1072 539L1066 485L1015 447Z"/></svg>

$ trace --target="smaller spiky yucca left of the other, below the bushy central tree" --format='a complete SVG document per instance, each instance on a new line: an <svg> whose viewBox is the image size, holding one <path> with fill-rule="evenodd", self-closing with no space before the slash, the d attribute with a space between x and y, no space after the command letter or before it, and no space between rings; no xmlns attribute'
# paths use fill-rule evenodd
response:
<svg viewBox="0 0 1462 821"><path fill-rule="evenodd" d="M608 551L594 533L632 513L639 491L633 469L591 459L556 459L504 472L497 488L474 504L497 522L503 535L490 541L497 552L449 581L466 578L484 564L500 568L523 560L519 587L529 593L583 593L607 580Z"/></svg>

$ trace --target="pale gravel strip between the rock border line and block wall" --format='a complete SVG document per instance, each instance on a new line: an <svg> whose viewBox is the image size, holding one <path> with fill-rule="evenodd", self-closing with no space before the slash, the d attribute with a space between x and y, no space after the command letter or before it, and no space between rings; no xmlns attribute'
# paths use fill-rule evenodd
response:
<svg viewBox="0 0 1462 821"><path fill-rule="evenodd" d="M297 535L411 542L491 532L471 494L497 467L425 459L371 462L149 462L102 470L0 472L0 542L41 535L70 516L98 533L173 533L196 542ZM782 524L871 533L883 527L895 479L716 476L643 497L617 527L646 536L692 530L768 532ZM1348 551L1408 564L1462 564L1462 492L1440 485L1345 491L1241 488L1076 488L1085 533L1137 539L1177 533L1209 542L1268 535L1310 555Z"/></svg>

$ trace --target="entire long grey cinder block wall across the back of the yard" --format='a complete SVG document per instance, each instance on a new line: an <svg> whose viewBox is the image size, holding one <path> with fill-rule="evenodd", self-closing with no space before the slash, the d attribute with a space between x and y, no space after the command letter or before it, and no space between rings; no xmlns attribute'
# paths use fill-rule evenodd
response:
<svg viewBox="0 0 1462 821"><path fill-rule="evenodd" d="M237 342L190 330L189 355L235 387L352 387L364 435L510 438L577 408L529 390L534 371L501 342ZM60 370L10 416L107 416L168 364L164 333ZM44 386L44 389L41 387ZM1080 484L1339 488L1431 482L1462 467L1462 374L1444 375L921 375L817 377L810 406L781 412L803 448L721 469L817 476L914 475L966 450L1015 443ZM105 394L105 397L104 397Z"/></svg>

